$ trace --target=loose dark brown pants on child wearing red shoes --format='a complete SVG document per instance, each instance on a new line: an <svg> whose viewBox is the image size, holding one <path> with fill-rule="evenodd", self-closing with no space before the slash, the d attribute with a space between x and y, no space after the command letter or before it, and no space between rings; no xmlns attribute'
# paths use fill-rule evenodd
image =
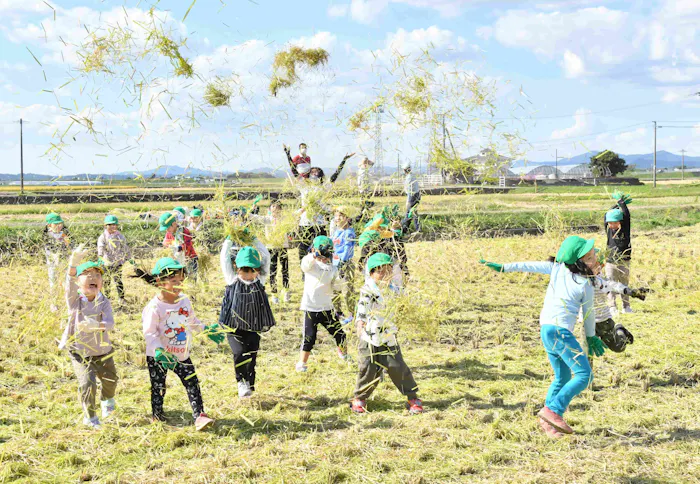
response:
<svg viewBox="0 0 700 484"><path fill-rule="evenodd" d="M386 370L396 388L407 398L417 398L418 385L411 369L403 360L399 346L372 346L360 339L357 347L360 371L355 384L355 398L366 400L379 385L382 370Z"/></svg>

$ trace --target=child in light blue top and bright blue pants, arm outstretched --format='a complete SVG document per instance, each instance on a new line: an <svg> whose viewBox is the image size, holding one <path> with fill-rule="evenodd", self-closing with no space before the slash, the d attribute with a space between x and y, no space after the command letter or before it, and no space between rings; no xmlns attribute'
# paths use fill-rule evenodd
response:
<svg viewBox="0 0 700 484"><path fill-rule="evenodd" d="M591 365L574 336L579 310L583 310L586 342L590 355L602 356L605 345L595 335L593 286L590 279L600 272L593 240L572 235L562 242L555 262L495 264L480 261L497 272L538 272L550 274L544 305L540 312L540 336L554 381L545 406L538 412L542 430L552 438L571 434L563 415L571 400L592 381ZM573 374L573 378L572 378Z"/></svg>

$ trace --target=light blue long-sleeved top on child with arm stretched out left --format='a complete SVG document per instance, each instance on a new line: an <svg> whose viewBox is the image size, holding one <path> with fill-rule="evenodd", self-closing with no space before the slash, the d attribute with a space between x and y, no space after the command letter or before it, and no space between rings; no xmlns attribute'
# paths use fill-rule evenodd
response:
<svg viewBox="0 0 700 484"><path fill-rule="evenodd" d="M504 264L503 271L549 274L540 325L551 324L573 333L577 316L582 310L586 336L595 336L593 286L587 277L572 273L558 262L514 262Z"/></svg>

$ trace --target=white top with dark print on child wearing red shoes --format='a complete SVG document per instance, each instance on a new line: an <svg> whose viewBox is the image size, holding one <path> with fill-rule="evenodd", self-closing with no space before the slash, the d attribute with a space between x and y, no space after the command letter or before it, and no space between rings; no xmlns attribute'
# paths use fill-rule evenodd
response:
<svg viewBox="0 0 700 484"><path fill-rule="evenodd" d="M390 285L388 291L397 293L398 288ZM379 286L367 277L357 302L357 320L364 323L360 338L373 346L396 346L399 330L387 316L386 302Z"/></svg>

